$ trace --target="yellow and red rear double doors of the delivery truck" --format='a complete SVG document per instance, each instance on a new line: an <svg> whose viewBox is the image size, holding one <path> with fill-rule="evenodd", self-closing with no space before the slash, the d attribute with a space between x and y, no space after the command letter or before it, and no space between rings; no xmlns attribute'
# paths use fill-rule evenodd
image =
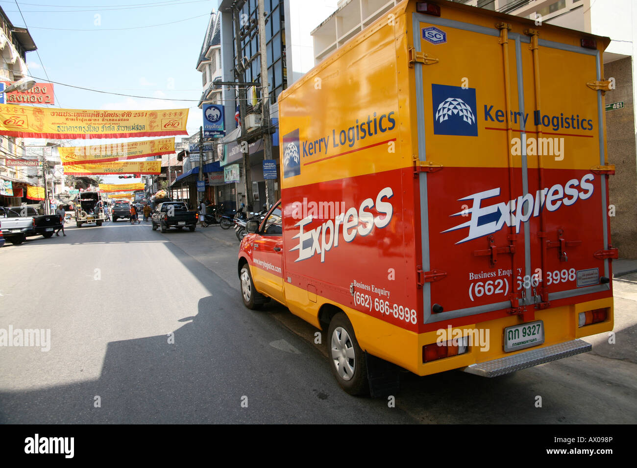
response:
<svg viewBox="0 0 637 468"><path fill-rule="evenodd" d="M608 291L599 51L444 16L412 18L424 322Z"/></svg>

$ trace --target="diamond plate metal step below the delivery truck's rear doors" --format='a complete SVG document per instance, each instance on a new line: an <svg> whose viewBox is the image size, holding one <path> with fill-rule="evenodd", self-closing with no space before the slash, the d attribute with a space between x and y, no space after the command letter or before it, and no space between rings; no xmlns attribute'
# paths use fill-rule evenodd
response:
<svg viewBox="0 0 637 468"><path fill-rule="evenodd" d="M533 367L534 365L544 364L545 362L586 353L590 350L592 350L590 343L586 343L586 341L581 339L574 339L573 341L566 341L566 343L553 344L546 348L532 349L512 356L480 362L480 364L471 364L462 369L462 371L483 377L497 377L510 374L510 372L520 371L527 367Z"/></svg>

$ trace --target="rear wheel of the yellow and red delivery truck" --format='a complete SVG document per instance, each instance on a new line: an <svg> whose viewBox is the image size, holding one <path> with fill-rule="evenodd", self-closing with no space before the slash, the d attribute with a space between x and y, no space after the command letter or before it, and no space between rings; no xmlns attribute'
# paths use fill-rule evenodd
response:
<svg viewBox="0 0 637 468"><path fill-rule="evenodd" d="M327 332L328 359L334 378L350 395L369 394L367 363L345 313L332 318Z"/></svg>

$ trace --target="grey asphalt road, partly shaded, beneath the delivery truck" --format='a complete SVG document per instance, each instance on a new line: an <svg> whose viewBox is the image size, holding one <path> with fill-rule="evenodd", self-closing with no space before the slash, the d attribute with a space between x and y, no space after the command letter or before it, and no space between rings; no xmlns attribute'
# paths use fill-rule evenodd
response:
<svg viewBox="0 0 637 468"><path fill-rule="evenodd" d="M637 275L615 282L615 344L495 379L406 373L390 408L338 387L313 327L243 307L232 230L67 233L0 249L0 329L50 329L48 351L0 347L0 423L637 422Z"/></svg>

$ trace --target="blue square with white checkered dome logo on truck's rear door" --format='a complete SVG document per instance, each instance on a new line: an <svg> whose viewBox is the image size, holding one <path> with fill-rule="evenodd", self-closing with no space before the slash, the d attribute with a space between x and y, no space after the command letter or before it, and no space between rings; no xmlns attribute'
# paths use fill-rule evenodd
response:
<svg viewBox="0 0 637 468"><path fill-rule="evenodd" d="M478 136L475 88L432 83L431 97L434 134Z"/></svg>

